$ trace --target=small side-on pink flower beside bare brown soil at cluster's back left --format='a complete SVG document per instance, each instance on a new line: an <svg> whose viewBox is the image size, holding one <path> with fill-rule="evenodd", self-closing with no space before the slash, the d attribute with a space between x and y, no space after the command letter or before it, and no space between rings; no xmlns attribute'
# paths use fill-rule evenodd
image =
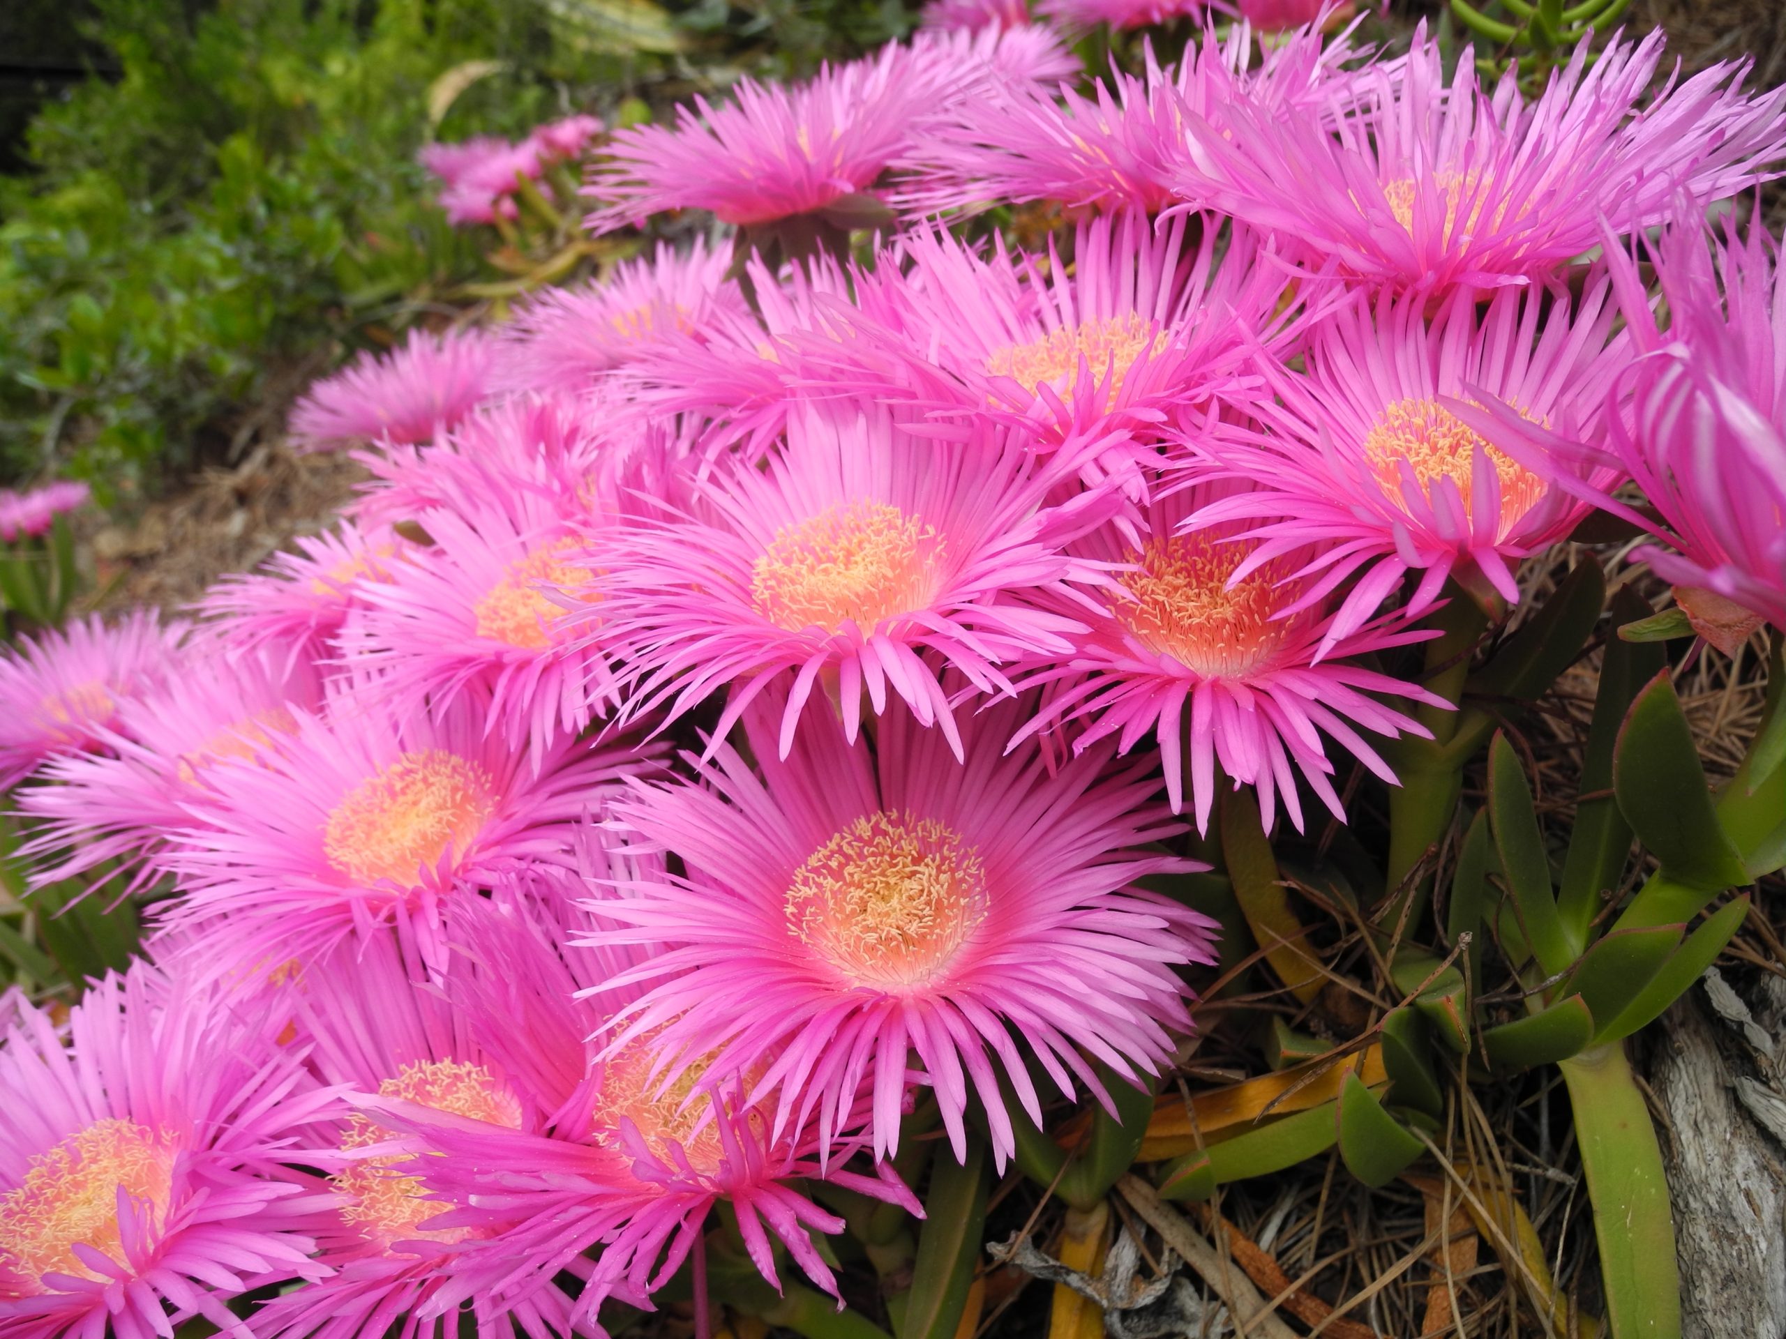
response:
<svg viewBox="0 0 1786 1339"><path fill-rule="evenodd" d="M389 353L361 353L311 386L291 411L291 436L313 450L432 441L489 396L500 359L502 345L477 329L411 330Z"/></svg>

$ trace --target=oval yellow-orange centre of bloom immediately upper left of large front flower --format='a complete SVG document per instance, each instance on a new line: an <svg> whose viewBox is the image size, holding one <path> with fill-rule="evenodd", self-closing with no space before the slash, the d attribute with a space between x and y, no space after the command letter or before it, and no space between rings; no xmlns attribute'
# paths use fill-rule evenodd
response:
<svg viewBox="0 0 1786 1339"><path fill-rule="evenodd" d="M477 762L439 748L404 753L330 811L323 853L359 884L409 887L448 846L463 857L495 807L495 782Z"/></svg>

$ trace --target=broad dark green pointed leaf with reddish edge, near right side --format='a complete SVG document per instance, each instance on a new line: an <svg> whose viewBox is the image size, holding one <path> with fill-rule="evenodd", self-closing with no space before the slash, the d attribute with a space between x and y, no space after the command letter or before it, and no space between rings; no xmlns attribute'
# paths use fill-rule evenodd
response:
<svg viewBox="0 0 1786 1339"><path fill-rule="evenodd" d="M1648 682L1625 716L1613 753L1613 787L1625 821L1661 861L1670 884L1709 896L1748 882L1743 857L1718 825L1693 730L1666 671Z"/></svg>

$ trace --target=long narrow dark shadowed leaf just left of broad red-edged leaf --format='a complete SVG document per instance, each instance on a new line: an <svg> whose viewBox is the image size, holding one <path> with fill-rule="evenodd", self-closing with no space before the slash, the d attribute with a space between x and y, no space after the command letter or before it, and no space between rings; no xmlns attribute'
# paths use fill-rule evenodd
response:
<svg viewBox="0 0 1786 1339"><path fill-rule="evenodd" d="M1613 596L1613 621L1648 609L1629 586ZM1656 645L1627 645L1609 641L1600 661L1600 691L1593 700L1593 721L1588 727L1588 748L1582 753L1579 794L1597 796L1575 805L1575 827L1570 832L1568 853L1563 859L1563 880L1557 887L1557 914L1572 943L1588 941L1588 927L1600 914L1600 893L1618 887L1631 855L1631 825L1618 811L1613 789L1613 750L1618 730L1625 723L1638 689L1654 678L1666 664L1666 655Z"/></svg>

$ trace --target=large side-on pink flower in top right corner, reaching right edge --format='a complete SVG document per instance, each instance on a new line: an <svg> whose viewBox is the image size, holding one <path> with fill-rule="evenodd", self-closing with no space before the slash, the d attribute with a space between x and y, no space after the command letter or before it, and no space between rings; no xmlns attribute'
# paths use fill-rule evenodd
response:
<svg viewBox="0 0 1786 1339"><path fill-rule="evenodd" d="M1786 155L1786 89L1743 95L1747 64L1725 62L1650 96L1661 52L1657 29L1590 62L1584 37L1527 102L1516 71L1484 93L1468 48L1447 86L1420 30L1406 68L1361 71L1338 120L1245 104L1193 116L1179 187L1366 284L1554 284L1598 245L1602 212L1638 232L1675 191L1729 196Z"/></svg>

